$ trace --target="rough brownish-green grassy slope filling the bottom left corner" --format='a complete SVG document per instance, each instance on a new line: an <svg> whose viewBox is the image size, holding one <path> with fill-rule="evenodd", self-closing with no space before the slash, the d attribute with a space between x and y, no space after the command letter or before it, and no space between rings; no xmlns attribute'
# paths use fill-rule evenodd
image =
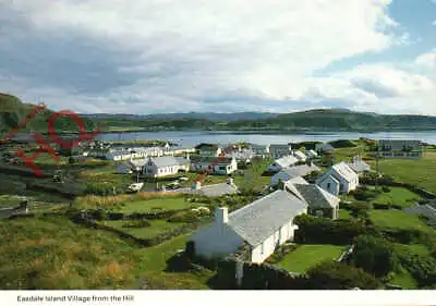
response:
<svg viewBox="0 0 436 306"><path fill-rule="evenodd" d="M133 281L133 248L111 233L33 218L0 221L0 235L3 290L121 289Z"/></svg>

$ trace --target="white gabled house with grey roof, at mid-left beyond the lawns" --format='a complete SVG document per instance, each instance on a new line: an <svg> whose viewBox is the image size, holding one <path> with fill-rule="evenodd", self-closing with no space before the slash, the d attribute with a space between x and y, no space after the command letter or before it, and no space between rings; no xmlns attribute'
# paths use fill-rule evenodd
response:
<svg viewBox="0 0 436 306"><path fill-rule="evenodd" d="M144 176L164 178L190 170L190 160L184 157L162 156L149 158L144 164Z"/></svg>

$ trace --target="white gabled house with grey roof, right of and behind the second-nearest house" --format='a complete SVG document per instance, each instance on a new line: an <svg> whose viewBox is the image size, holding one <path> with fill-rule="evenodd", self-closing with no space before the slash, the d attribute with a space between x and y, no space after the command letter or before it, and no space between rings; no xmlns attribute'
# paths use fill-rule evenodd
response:
<svg viewBox="0 0 436 306"><path fill-rule="evenodd" d="M318 180L316 185L338 196L340 193L348 194L359 186L359 175L347 162L340 162L327 170Z"/></svg>

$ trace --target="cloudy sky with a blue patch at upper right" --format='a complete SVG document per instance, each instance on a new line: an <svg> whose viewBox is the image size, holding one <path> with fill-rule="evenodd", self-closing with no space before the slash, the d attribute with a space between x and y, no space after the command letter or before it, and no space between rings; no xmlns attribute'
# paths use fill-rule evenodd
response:
<svg viewBox="0 0 436 306"><path fill-rule="evenodd" d="M0 0L0 91L82 113L436 115L436 0Z"/></svg>

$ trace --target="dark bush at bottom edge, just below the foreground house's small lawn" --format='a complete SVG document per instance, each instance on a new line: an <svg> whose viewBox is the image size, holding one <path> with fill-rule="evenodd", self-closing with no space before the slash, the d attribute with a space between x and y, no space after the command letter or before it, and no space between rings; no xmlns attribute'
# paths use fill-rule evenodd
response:
<svg viewBox="0 0 436 306"><path fill-rule="evenodd" d="M380 286L379 281L362 269L337 261L323 262L310 269L307 276L314 290L374 290Z"/></svg>

